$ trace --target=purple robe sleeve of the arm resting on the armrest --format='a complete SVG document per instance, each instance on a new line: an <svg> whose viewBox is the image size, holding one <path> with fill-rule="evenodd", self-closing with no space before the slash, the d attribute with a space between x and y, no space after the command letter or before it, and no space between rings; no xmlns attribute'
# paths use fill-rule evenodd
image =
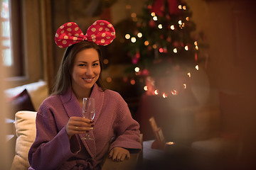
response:
<svg viewBox="0 0 256 170"><path fill-rule="evenodd" d="M116 139L110 145L110 150L113 147L142 149L142 145L139 142L139 123L132 118L127 103L117 93L114 94L112 102L114 103L113 129Z"/></svg>

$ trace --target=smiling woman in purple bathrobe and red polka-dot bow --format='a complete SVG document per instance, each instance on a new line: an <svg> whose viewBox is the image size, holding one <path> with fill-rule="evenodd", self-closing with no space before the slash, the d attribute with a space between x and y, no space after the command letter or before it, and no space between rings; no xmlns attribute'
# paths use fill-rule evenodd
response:
<svg viewBox="0 0 256 170"><path fill-rule="evenodd" d="M37 113L36 140L28 153L30 169L101 169L106 154L119 162L129 159L129 151L142 147L139 124L132 119L127 103L117 92L102 89L102 55L95 43L112 42L114 28L109 29L112 25L107 21L95 23L86 35L78 33L75 23L61 26L55 35L57 45L68 48L60 64L53 94L43 101ZM106 27L102 28L102 25ZM93 28L100 33L89 33L95 30ZM76 38L70 35L72 30L75 30ZM100 40L97 40L98 35ZM110 35L112 38L106 38ZM78 38L82 40L78 41ZM95 98L96 114L92 121L82 118L84 97ZM86 132L94 140L82 140Z"/></svg>

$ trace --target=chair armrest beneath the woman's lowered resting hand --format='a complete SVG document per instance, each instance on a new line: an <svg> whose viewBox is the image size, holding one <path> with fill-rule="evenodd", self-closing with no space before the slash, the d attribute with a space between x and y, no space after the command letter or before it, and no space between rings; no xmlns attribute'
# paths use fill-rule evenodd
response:
<svg viewBox="0 0 256 170"><path fill-rule="evenodd" d="M141 151L142 152L142 151ZM130 154L129 159L124 159L123 162L114 162L112 159L107 158L103 163L102 170L115 170L115 169L122 169L122 170L132 170L136 169L139 159L139 153L137 154Z"/></svg>

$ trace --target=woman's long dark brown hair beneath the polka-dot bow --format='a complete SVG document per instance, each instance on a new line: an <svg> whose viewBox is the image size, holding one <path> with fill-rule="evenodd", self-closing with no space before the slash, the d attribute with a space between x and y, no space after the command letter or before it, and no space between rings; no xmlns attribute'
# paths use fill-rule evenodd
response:
<svg viewBox="0 0 256 170"><path fill-rule="evenodd" d="M68 88L71 86L72 78L72 70L75 61L75 56L78 52L93 48L97 51L100 60L100 70L102 72L102 52L100 47L96 45L94 42L82 41L78 42L74 45L71 45L65 50L63 55L63 59L60 63L60 68L58 69L58 73L56 76L55 84L53 86L53 91L51 95L55 94L64 94ZM100 72L100 77L97 79L96 84L100 86L103 90L105 90L103 83L102 83L102 75Z"/></svg>

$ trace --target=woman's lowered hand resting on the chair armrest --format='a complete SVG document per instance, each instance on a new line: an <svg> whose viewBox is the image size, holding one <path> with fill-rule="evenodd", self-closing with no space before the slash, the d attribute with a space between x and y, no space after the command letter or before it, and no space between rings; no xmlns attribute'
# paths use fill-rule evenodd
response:
<svg viewBox="0 0 256 170"><path fill-rule="evenodd" d="M112 157L113 161L122 162L125 158L129 159L130 154L127 149L124 149L122 147L114 147L111 149L109 157Z"/></svg>

